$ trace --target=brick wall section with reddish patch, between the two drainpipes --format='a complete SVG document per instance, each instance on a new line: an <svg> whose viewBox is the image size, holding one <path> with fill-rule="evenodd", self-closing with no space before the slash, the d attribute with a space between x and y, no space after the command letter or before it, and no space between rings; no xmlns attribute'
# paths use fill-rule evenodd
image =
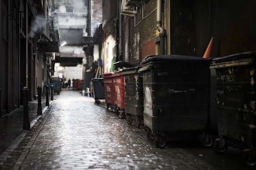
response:
<svg viewBox="0 0 256 170"><path fill-rule="evenodd" d="M123 36L123 59L126 61L128 60L138 65L146 55L156 54L154 42L154 38L158 36L156 8L157 1L148 1L144 6L138 6L135 17L122 16L123 33L125 33L125 36ZM127 36L128 33L125 31L128 24L129 36Z"/></svg>

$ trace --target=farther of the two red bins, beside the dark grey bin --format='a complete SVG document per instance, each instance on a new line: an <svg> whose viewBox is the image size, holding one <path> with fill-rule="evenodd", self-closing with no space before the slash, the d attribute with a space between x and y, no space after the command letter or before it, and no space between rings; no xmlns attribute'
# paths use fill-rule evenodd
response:
<svg viewBox="0 0 256 170"><path fill-rule="evenodd" d="M116 95L114 93L113 75L114 75L114 72L107 72L103 74L102 77L104 82L106 108L108 110L116 111L115 109Z"/></svg>

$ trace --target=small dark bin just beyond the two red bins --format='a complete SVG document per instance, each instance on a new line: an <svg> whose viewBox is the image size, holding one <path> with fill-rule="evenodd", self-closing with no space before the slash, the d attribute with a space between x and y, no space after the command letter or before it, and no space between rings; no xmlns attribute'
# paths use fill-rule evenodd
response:
<svg viewBox="0 0 256 170"><path fill-rule="evenodd" d="M94 99L95 99L95 102L99 104L100 103L99 100L105 99L103 78L93 78L92 81L93 81Z"/></svg>

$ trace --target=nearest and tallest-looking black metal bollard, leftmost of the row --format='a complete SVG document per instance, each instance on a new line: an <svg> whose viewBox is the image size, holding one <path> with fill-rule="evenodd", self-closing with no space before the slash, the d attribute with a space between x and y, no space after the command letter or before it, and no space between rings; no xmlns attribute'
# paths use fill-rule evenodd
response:
<svg viewBox="0 0 256 170"><path fill-rule="evenodd" d="M30 130L30 121L29 121L29 89L24 87L22 89L22 98L23 98L23 129Z"/></svg>

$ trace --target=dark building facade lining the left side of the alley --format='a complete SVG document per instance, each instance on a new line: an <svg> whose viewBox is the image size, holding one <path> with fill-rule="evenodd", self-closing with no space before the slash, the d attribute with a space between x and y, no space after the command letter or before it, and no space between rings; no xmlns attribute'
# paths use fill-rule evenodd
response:
<svg viewBox="0 0 256 170"><path fill-rule="evenodd" d="M59 38L52 9L51 0L1 1L1 117L22 104L23 87L32 101L53 74Z"/></svg>

